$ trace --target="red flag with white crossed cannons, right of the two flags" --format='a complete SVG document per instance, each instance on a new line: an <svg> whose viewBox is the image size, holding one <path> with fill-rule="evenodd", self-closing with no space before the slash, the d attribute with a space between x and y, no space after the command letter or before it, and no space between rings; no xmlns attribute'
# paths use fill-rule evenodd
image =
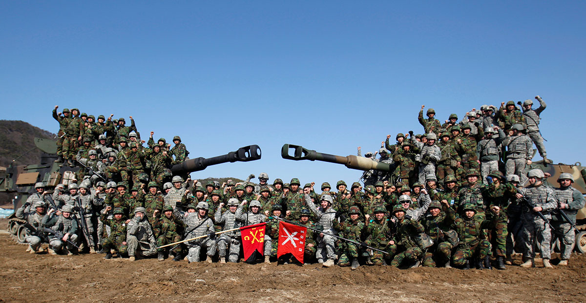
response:
<svg viewBox="0 0 586 303"><path fill-rule="evenodd" d="M291 253L299 262L303 263L305 250L305 236L307 228L286 222L279 222L279 245L277 247L277 258L284 254Z"/></svg>

